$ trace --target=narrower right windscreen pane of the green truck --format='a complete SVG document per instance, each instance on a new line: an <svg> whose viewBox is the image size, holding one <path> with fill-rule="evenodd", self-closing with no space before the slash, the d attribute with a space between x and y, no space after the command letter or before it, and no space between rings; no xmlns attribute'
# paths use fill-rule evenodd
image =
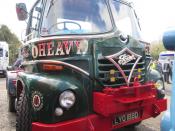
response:
<svg viewBox="0 0 175 131"><path fill-rule="evenodd" d="M134 10L119 0L110 0L115 24L122 33L140 39L139 21Z"/></svg>

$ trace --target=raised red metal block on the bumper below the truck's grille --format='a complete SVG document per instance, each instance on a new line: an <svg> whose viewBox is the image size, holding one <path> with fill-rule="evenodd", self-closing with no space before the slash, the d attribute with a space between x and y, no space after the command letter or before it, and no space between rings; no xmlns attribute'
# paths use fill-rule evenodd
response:
<svg viewBox="0 0 175 131"><path fill-rule="evenodd" d="M153 83L147 83L145 85L139 85L137 83L133 87L105 88L103 92L94 93L94 111L108 117L133 109L141 109L148 105L157 107L156 95L157 91ZM161 109L154 109L165 110L166 105L157 108ZM153 114L158 115L160 114L160 111L153 111L151 116Z"/></svg>

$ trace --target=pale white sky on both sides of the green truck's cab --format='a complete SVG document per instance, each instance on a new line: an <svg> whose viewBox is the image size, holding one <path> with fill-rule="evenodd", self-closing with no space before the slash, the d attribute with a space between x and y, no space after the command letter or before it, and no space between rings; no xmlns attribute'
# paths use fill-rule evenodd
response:
<svg viewBox="0 0 175 131"><path fill-rule="evenodd" d="M144 40L151 42L160 39L164 30L175 27L175 0L130 0L133 2L136 13L140 19L142 36ZM35 0L1 0L0 25L7 25L21 40L26 23L18 21L16 15L16 3L24 2L27 9Z"/></svg>

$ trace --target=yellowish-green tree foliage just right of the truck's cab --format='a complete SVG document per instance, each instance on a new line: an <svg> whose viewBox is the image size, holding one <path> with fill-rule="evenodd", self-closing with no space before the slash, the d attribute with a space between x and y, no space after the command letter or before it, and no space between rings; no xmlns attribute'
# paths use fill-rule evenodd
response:
<svg viewBox="0 0 175 131"><path fill-rule="evenodd" d="M153 57L153 59L158 59L159 58L159 54L162 51L165 51L165 47L163 46L162 42L152 42L151 43L151 56Z"/></svg>

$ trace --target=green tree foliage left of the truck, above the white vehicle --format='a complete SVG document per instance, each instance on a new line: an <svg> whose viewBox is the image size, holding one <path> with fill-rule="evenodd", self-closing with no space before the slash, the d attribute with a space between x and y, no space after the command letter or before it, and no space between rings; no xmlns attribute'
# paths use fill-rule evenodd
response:
<svg viewBox="0 0 175 131"><path fill-rule="evenodd" d="M21 42L6 25L2 25L0 28L0 41L6 41L9 44L9 61L12 64L18 56L18 49L21 46Z"/></svg>

